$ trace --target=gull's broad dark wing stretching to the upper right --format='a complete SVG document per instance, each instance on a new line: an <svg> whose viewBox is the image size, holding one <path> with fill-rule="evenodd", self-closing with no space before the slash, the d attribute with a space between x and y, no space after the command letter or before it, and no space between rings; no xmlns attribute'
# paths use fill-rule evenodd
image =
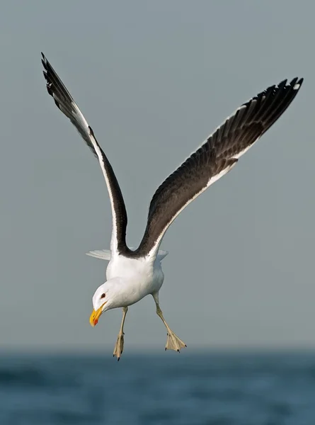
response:
<svg viewBox="0 0 315 425"><path fill-rule="evenodd" d="M270 86L241 105L204 144L159 186L151 200L147 228L134 255L152 256L178 214L219 180L285 112L303 79Z"/></svg>

